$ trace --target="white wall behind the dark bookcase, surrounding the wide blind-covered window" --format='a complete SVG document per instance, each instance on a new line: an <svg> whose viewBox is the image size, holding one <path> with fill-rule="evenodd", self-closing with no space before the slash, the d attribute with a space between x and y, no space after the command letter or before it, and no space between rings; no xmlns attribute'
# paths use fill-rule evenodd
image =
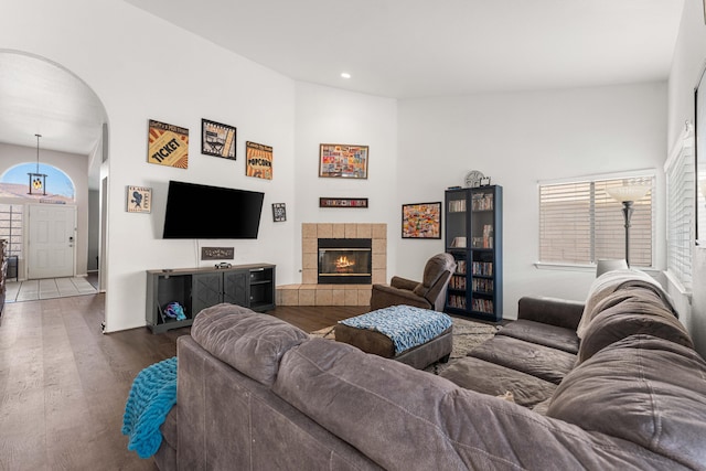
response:
<svg viewBox="0 0 706 471"><path fill-rule="evenodd" d="M666 85L408 99L399 104L398 202L443 201L474 169L504 192L504 317L520 297L582 300L592 271L541 270L541 180L657 169L655 265L664 265ZM441 240L405 240L396 272L418 271Z"/></svg>

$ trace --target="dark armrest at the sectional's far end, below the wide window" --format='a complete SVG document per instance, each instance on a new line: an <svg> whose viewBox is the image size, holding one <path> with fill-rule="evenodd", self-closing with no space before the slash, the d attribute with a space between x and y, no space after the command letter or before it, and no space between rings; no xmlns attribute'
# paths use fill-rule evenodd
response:
<svg viewBox="0 0 706 471"><path fill-rule="evenodd" d="M517 319L576 330L584 315L584 302L526 296L517 302Z"/></svg>

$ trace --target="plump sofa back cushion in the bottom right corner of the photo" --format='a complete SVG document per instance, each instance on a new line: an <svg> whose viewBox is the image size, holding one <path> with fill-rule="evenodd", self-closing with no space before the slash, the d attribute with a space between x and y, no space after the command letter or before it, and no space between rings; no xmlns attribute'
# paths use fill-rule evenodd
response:
<svg viewBox="0 0 706 471"><path fill-rule="evenodd" d="M674 342L632 335L569 373L547 415L703 469L706 362Z"/></svg>

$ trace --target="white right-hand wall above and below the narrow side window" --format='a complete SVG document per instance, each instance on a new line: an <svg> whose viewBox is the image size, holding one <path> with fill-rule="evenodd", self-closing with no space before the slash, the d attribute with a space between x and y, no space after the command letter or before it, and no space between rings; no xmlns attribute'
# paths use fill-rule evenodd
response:
<svg viewBox="0 0 706 471"><path fill-rule="evenodd" d="M668 83L668 143L673 146L684 129L686 120L694 121L694 87L706 62L706 24L703 2L684 2L680 35L674 50L674 61ZM700 210L699 210L700 211ZM696 343L696 350L706 355L706 248L692 250L693 298L687 328ZM671 295L680 306L688 307L689 300L674 287Z"/></svg>

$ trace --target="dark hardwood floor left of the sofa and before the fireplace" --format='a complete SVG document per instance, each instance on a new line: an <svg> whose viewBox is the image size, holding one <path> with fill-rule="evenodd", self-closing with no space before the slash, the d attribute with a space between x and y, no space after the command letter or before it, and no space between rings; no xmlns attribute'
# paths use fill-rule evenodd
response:
<svg viewBox="0 0 706 471"><path fill-rule="evenodd" d="M9 303L0 318L0 470L156 470L127 450L135 376L176 354L179 329L103 334L104 295ZM365 307L280 307L268 314L311 332Z"/></svg>

